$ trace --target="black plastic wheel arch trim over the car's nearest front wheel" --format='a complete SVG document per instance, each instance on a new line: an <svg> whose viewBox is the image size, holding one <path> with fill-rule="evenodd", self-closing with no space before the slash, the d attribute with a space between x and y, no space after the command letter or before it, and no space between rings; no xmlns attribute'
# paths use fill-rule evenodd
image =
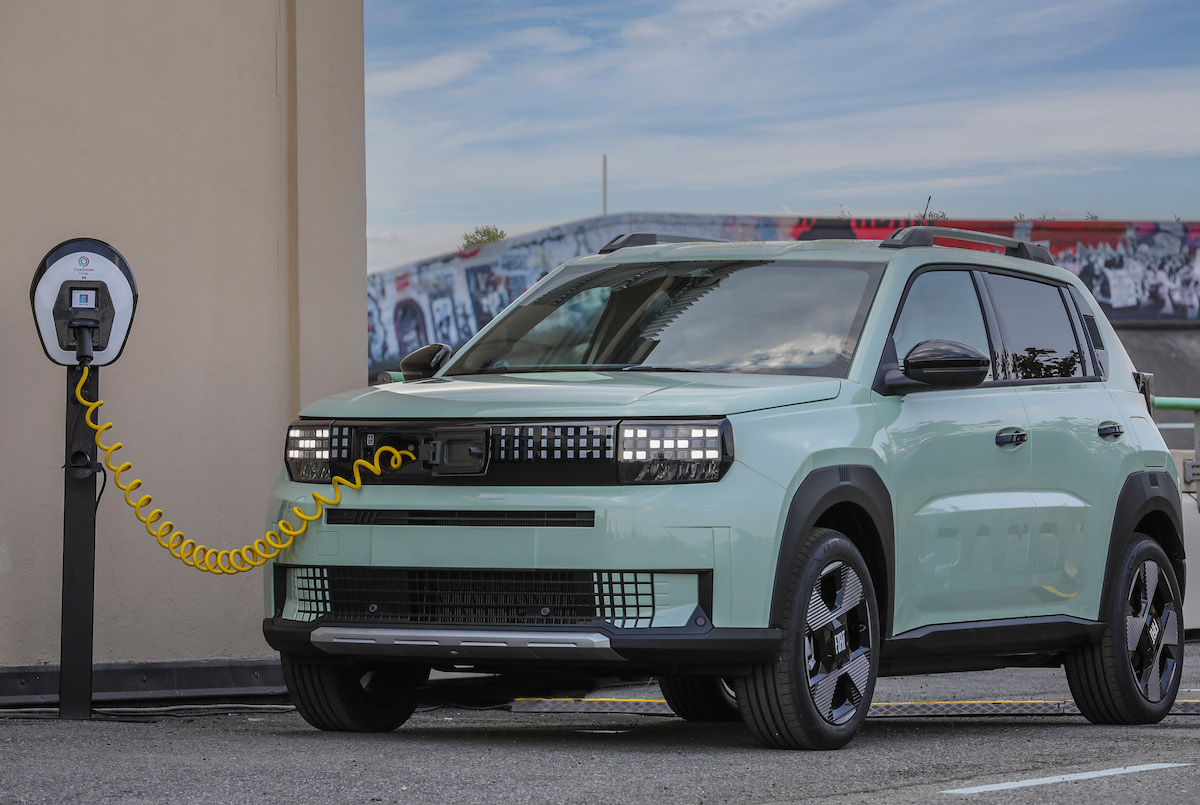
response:
<svg viewBox="0 0 1200 805"><path fill-rule="evenodd" d="M895 578L895 530L892 519L892 494L875 468L865 464L844 467L824 467L815 469L800 483L792 497L792 504L784 521L784 534L779 545L779 557L775 563L775 582L770 595L770 619L773 629L780 629L784 619L784 607L787 605L787 584L790 569L799 555L804 539L815 527L827 525L823 522L827 512L840 504L851 504L870 519L865 523L874 528L880 541L881 555L874 551L859 552L866 561L875 587L880 614L880 638L892 636L892 608L894 603ZM836 525L829 525L836 528ZM841 530L841 529L838 529ZM856 537L846 535L858 545ZM882 576L882 578L881 578ZM881 594L882 591L882 594Z"/></svg>

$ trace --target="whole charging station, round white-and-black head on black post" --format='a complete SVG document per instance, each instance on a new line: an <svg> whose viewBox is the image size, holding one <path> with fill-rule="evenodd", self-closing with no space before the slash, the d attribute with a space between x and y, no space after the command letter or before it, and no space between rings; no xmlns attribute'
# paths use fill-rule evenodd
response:
<svg viewBox="0 0 1200 805"><path fill-rule="evenodd" d="M59 717L90 719L96 473L101 464L77 386L86 374L88 397L97 398L96 367L121 356L138 306L138 287L120 252L101 240L79 238L59 244L42 258L29 301L46 356L67 367Z"/></svg>

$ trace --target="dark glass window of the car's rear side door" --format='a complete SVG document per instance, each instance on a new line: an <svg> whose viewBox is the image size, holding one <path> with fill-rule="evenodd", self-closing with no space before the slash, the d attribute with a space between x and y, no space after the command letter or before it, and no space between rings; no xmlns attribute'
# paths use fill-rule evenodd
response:
<svg viewBox="0 0 1200 805"><path fill-rule="evenodd" d="M1002 361L1018 380L1082 377L1079 342L1057 286L988 275L1004 340Z"/></svg>

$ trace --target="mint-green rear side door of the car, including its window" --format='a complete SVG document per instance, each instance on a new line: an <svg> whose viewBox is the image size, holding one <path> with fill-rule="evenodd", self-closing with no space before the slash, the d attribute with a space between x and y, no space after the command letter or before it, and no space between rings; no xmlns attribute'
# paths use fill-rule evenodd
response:
<svg viewBox="0 0 1200 805"><path fill-rule="evenodd" d="M1002 361L1030 419L1030 492L1037 521L1028 615L1096 618L1117 492L1138 461L1136 437L1104 388L1103 368L1069 288L990 272L985 284Z"/></svg>

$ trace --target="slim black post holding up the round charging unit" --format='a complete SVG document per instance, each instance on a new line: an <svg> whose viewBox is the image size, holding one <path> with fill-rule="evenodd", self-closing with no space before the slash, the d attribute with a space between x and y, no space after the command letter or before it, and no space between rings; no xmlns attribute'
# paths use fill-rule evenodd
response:
<svg viewBox="0 0 1200 805"><path fill-rule="evenodd" d="M59 649L59 717L91 719L92 608L96 587L96 439L76 400L82 367L67 368L66 455L62 470L62 633ZM83 394L95 401L94 366Z"/></svg>

